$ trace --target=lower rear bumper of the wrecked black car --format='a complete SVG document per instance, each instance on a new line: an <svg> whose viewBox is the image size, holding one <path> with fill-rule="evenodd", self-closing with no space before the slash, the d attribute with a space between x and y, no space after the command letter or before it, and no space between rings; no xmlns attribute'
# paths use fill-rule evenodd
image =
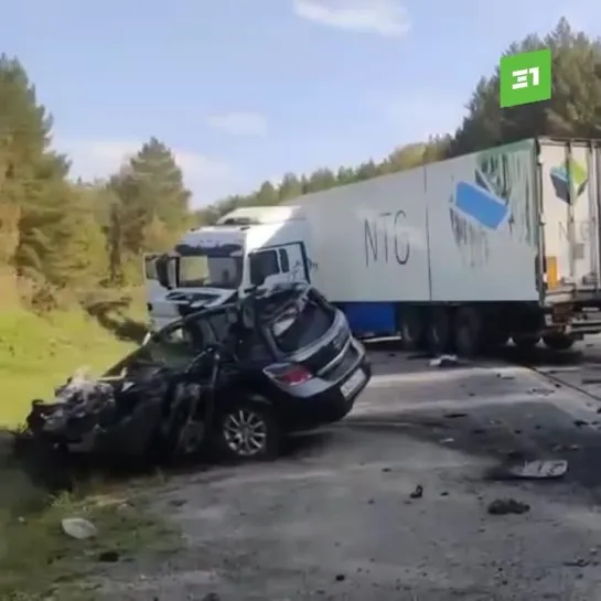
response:
<svg viewBox="0 0 601 601"><path fill-rule="evenodd" d="M347 396L343 395L342 387L359 369L364 374L363 382L354 387ZM371 377L372 367L368 361L363 358L355 369L352 369L342 380L323 393L310 398L297 398L289 401L286 415L282 416L286 428L289 431L308 430L343 419L353 409L355 400L366 388Z"/></svg>

